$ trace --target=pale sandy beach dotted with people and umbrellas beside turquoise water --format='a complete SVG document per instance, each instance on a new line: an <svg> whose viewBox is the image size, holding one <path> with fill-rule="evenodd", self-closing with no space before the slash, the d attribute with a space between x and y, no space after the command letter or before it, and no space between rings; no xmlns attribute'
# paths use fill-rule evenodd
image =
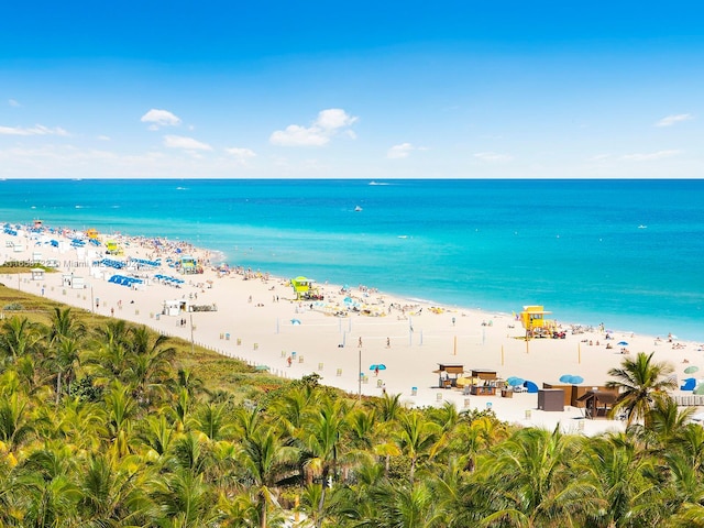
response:
<svg viewBox="0 0 704 528"><path fill-rule="evenodd" d="M491 407L506 421L550 429L559 424L566 432L593 435L623 429L624 424L584 419L584 409L571 406L562 411L538 410L535 393L475 396L462 388L440 388L440 376L433 371L439 364L461 364L468 373L495 371L499 378L517 376L541 388L543 383L560 385L560 377L570 374L581 376L580 385L591 388L603 386L609 380L607 371L618 366L625 354L654 352L657 361L673 365L680 383L697 376L685 374L684 369L704 367L702 345L674 337L670 340L667 328L658 329L664 332L660 336L632 334L610 329L608 321L604 328L585 328L553 314L564 339L527 342L521 339L520 321L512 314L451 309L388 296L373 288L373 277L369 285L346 290L314 283L321 299L300 301L290 285L293 277L217 268L207 251L183 242L99 233L100 245L72 245L72 240L82 235L24 228L0 232L0 263L33 261L54 264L57 270L0 275L0 282L193 340L250 364L266 365L284 377L316 372L322 383L353 395L361 391L378 396L386 391L400 394L402 402L413 406L451 402L459 409ZM122 254L106 255L108 240ZM182 274L172 267L185 255L196 258L202 273ZM122 270L112 267L130 260ZM116 275L141 282L118 284ZM510 308L518 312L522 307ZM385 369L375 372L375 364ZM361 383L360 372L364 373Z"/></svg>

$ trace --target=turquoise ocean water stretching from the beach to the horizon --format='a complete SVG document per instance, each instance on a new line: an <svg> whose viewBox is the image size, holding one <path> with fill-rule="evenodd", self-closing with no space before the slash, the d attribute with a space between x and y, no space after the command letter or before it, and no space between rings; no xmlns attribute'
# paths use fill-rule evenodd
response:
<svg viewBox="0 0 704 528"><path fill-rule="evenodd" d="M704 180L0 180L0 221L704 342ZM361 210L355 210L361 208Z"/></svg>

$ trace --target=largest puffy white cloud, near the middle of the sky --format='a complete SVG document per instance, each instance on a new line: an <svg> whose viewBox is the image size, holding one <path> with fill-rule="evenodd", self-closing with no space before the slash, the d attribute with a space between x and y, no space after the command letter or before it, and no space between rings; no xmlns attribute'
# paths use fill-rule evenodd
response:
<svg viewBox="0 0 704 528"><path fill-rule="evenodd" d="M274 145L280 146L323 146L342 131L349 138L355 139L356 135L349 130L349 127L356 122L358 119L341 108L329 108L318 113L318 118L312 125L289 124L285 130L274 131L268 141Z"/></svg>

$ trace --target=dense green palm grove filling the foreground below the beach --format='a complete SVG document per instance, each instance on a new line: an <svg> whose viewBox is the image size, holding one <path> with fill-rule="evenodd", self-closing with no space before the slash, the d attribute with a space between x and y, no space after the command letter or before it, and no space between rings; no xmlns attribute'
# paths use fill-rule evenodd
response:
<svg viewBox="0 0 704 528"><path fill-rule="evenodd" d="M235 404L174 356L124 321L4 319L0 526L704 526L704 429L645 354L610 373L627 432L597 438L315 375Z"/></svg>

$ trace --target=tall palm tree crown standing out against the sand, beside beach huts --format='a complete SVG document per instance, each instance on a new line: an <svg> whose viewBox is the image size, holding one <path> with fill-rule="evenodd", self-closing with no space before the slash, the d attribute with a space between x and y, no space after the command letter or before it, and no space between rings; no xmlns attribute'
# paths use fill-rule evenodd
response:
<svg viewBox="0 0 704 528"><path fill-rule="evenodd" d="M653 354L639 352L635 359L626 358L619 369L608 371L608 375L616 380L606 382L606 386L620 392L610 414L617 416L626 411L629 426L645 419L648 427L648 413L654 402L668 397L668 391L676 388L674 378L669 377L674 367L669 363L654 363Z"/></svg>

